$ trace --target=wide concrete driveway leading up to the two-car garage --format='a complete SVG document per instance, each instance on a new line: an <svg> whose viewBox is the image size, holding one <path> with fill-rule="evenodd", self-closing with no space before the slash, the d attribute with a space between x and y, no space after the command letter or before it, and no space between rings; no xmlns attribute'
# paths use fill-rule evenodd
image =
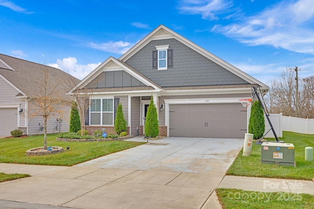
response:
<svg viewBox="0 0 314 209"><path fill-rule="evenodd" d="M243 139L164 138L72 167L30 165L35 176L0 183L0 200L58 209L220 208L213 190L242 146Z"/></svg>

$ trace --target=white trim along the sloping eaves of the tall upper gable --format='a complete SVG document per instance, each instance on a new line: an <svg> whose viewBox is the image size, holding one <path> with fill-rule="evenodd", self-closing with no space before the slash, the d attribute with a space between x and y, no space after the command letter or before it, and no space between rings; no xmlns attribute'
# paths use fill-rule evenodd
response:
<svg viewBox="0 0 314 209"><path fill-rule="evenodd" d="M125 54L123 54L119 60L122 62L126 62L129 58L131 58L136 52L146 46L153 40L161 40L161 39L176 39L177 41L183 43L184 45L190 47L191 49L195 50L196 52L200 53L201 55L205 56L212 62L216 63L217 65L223 67L226 70L234 73L238 77L242 78L243 80L247 81L250 84L259 84L261 87L266 87L261 81L253 78L252 76L246 74L245 72L235 68L233 65L227 63L226 61L220 59L219 57L215 56L214 54L210 53L206 49L194 44L193 42L187 40L183 36L179 35L178 33L170 30L164 25L159 25L155 30L149 33L145 38L139 41L136 45L131 47Z"/></svg>

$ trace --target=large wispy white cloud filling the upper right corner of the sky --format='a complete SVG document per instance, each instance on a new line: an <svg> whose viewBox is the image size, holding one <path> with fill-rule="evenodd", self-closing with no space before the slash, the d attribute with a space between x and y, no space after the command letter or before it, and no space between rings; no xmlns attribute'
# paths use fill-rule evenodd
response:
<svg viewBox="0 0 314 209"><path fill-rule="evenodd" d="M282 1L239 23L215 25L212 31L250 45L270 45L314 54L314 1Z"/></svg>

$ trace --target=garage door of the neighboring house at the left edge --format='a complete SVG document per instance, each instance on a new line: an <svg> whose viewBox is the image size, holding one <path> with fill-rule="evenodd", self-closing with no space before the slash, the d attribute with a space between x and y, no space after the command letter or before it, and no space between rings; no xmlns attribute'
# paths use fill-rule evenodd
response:
<svg viewBox="0 0 314 209"><path fill-rule="evenodd" d="M11 136L11 131L17 129L18 116L16 108L0 109L0 136Z"/></svg>

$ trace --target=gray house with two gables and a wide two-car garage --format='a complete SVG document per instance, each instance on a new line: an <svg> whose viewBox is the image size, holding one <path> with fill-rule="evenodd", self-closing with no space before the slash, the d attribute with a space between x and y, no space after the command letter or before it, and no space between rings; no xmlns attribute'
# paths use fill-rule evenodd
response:
<svg viewBox="0 0 314 209"><path fill-rule="evenodd" d="M119 59L109 57L76 89L95 81L86 118L90 133L114 132L121 102L128 133L143 134L152 95L159 135L169 137L244 138L250 109L243 111L240 100L251 98L252 85L269 89L163 25Z"/></svg>

